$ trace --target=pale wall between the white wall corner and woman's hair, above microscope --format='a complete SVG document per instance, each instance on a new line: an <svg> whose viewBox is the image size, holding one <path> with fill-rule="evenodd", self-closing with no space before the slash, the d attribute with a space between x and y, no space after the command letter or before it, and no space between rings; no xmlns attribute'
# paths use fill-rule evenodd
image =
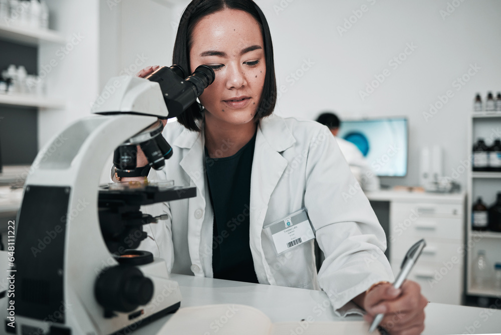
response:
<svg viewBox="0 0 501 335"><path fill-rule="evenodd" d="M100 90L112 76L171 64L171 7L163 0L101 1Z"/></svg>

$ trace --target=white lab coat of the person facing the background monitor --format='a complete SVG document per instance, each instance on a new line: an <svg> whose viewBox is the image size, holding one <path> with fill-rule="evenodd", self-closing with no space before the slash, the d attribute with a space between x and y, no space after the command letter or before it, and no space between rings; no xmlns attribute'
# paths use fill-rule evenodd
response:
<svg viewBox="0 0 501 335"><path fill-rule="evenodd" d="M357 178L362 189L366 191L379 190L379 178L369 166L362 151L352 142L338 136L335 137L343 156L350 165L351 173Z"/></svg>

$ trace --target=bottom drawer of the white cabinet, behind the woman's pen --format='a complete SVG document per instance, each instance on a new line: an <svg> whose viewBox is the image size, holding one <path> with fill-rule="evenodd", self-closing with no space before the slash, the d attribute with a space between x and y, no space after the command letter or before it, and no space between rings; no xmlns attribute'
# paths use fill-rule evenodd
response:
<svg viewBox="0 0 501 335"><path fill-rule="evenodd" d="M396 276L402 259L392 261L391 268ZM462 267L459 264L418 261L407 279L421 286L421 293L431 302L460 304L462 296Z"/></svg>

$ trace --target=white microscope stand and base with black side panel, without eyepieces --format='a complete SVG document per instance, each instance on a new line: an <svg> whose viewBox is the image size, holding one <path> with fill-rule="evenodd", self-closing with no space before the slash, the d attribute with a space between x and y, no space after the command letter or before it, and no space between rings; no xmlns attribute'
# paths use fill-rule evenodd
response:
<svg viewBox="0 0 501 335"><path fill-rule="evenodd" d="M109 83L115 80L122 84L107 98L98 99L102 103L94 105L96 114L54 136L33 163L16 220L16 271L9 272L15 278L15 296L0 298L0 333L128 334L179 308L179 286L169 279L160 258L125 265L135 271L130 280L118 275L111 282L120 287L100 288L104 293L117 290L108 299L117 300L111 305L126 305L127 311L98 302L103 264L124 267L108 249L100 226L102 168L118 146L169 115L165 92L157 82L115 77ZM150 297L146 303L145 296Z"/></svg>

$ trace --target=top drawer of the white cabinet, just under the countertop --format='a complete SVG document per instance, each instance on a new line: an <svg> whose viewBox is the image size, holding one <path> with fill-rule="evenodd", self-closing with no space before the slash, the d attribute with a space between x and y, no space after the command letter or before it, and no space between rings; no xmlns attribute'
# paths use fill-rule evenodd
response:
<svg viewBox="0 0 501 335"><path fill-rule="evenodd" d="M414 211L422 216L439 216L439 217L462 217L463 206L460 203L426 203L426 202L392 202L391 211L399 211L407 213L405 216Z"/></svg>

